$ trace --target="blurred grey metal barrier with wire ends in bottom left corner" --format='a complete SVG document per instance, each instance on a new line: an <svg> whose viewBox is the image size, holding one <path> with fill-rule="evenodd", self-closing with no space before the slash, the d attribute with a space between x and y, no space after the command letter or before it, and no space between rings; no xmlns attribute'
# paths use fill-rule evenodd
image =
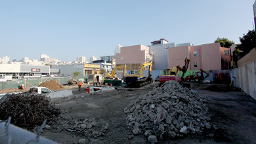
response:
<svg viewBox="0 0 256 144"><path fill-rule="evenodd" d="M0 120L0 143L56 143L50 139L40 136L47 120L43 122L36 134L14 126L10 124L10 122L11 117L9 117L8 120Z"/></svg>

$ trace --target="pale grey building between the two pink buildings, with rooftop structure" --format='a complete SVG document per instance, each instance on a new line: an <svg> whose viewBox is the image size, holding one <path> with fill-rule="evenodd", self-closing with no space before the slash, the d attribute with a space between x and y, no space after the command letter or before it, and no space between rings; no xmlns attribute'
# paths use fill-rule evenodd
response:
<svg viewBox="0 0 256 144"><path fill-rule="evenodd" d="M192 46L191 43L168 43L166 39L160 39L158 41L152 41L150 48L150 54L153 56L152 70L164 70L167 69L167 47L178 46Z"/></svg>

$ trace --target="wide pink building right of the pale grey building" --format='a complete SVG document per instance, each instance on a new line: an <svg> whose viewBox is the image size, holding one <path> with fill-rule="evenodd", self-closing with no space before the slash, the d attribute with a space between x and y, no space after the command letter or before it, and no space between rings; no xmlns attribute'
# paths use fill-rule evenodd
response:
<svg viewBox="0 0 256 144"><path fill-rule="evenodd" d="M230 55L225 55L230 48L221 48L219 43L204 44L199 46L167 47L167 63L171 69L177 65L184 65L184 59L190 59L188 70L221 70L222 60L230 63ZM222 52L223 51L223 52Z"/></svg>

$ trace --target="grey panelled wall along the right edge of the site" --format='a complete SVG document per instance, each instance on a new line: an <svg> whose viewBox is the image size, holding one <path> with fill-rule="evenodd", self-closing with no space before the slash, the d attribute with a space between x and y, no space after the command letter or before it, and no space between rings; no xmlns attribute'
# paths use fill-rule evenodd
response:
<svg viewBox="0 0 256 144"><path fill-rule="evenodd" d="M256 99L256 61L234 69L236 86Z"/></svg>

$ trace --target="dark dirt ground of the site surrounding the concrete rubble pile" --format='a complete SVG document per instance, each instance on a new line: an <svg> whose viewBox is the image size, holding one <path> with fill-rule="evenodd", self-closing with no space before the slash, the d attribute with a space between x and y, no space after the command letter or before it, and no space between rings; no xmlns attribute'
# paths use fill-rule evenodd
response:
<svg viewBox="0 0 256 144"><path fill-rule="evenodd" d="M58 143L78 143L84 139L85 143L148 143L146 136L133 135L127 128L124 113L129 103L152 90L153 86L144 86L137 90L112 90L85 94L84 89L72 89L74 96L71 98L58 98L56 106L60 107L62 115L49 124L42 132L42 136ZM244 92L225 91L213 88L205 90L205 84L192 86L199 94L206 97L209 108L208 115L211 124L217 130L205 130L202 135L186 135L179 139L158 140L158 143L256 143L256 101L246 96ZM107 122L108 129L100 137L89 137L70 132L61 121L74 122L79 118L95 118Z"/></svg>

